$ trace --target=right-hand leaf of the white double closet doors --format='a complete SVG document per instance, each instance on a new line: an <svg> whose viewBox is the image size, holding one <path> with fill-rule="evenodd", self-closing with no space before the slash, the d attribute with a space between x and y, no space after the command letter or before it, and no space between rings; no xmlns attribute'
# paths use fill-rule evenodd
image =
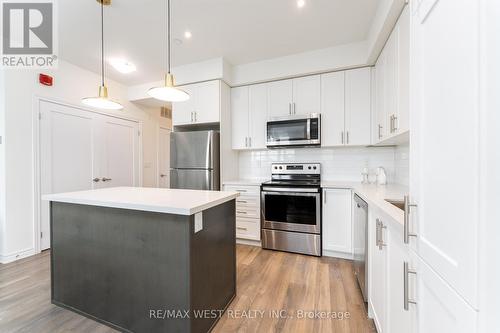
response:
<svg viewBox="0 0 500 333"><path fill-rule="evenodd" d="M139 186L139 124L100 115L100 187Z"/></svg>

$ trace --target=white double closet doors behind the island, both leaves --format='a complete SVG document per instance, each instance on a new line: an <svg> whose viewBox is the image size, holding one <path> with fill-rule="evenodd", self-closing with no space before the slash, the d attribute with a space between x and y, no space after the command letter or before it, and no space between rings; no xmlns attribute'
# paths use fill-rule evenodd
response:
<svg viewBox="0 0 500 333"><path fill-rule="evenodd" d="M40 102L41 195L140 186L140 124ZM40 248L50 247L49 205L40 201Z"/></svg>

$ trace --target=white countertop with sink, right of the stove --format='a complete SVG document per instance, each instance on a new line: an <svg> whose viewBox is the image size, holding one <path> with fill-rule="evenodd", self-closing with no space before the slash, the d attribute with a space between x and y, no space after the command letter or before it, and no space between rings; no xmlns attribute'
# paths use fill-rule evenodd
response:
<svg viewBox="0 0 500 333"><path fill-rule="evenodd" d="M375 185L361 184L359 182L342 182L342 181L323 181L321 187L324 188L346 188L352 189L361 199L368 203L370 207L376 207L386 215L389 215L394 221L404 223L404 212L396 206L386 201L396 200L403 201L404 196L408 194L408 187L398 184Z"/></svg>

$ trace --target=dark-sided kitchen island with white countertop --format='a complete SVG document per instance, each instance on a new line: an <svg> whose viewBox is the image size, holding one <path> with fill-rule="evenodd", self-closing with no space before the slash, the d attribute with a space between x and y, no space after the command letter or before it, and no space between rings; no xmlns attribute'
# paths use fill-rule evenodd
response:
<svg viewBox="0 0 500 333"><path fill-rule="evenodd" d="M52 303L125 332L209 331L236 294L237 196L131 187L44 196Z"/></svg>

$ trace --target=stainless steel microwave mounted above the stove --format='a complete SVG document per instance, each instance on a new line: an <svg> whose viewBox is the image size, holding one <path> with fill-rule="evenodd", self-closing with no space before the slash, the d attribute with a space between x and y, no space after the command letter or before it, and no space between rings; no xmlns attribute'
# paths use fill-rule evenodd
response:
<svg viewBox="0 0 500 333"><path fill-rule="evenodd" d="M321 145L321 116L287 116L267 122L268 148L308 147Z"/></svg>

